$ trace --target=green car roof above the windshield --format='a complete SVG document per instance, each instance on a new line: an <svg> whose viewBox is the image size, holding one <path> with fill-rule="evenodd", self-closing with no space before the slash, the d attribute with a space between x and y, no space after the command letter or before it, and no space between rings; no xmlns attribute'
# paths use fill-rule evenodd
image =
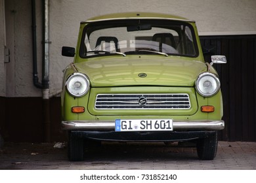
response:
<svg viewBox="0 0 256 183"><path fill-rule="evenodd" d="M175 16L172 14L163 14L156 12L121 12L121 13L113 13L113 14L104 14L101 16L95 16L93 18L89 18L83 23L90 22L100 22L106 20L127 20L127 19L158 19L158 20L179 20L183 22L194 22L193 20L188 20L181 16Z"/></svg>

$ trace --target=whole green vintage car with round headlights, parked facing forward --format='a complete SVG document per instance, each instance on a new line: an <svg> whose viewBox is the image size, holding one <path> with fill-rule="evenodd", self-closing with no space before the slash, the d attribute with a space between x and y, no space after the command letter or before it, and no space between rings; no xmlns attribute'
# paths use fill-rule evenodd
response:
<svg viewBox="0 0 256 183"><path fill-rule="evenodd" d="M194 141L213 159L224 129L220 81L205 63L194 21L129 12L81 22L66 67L62 127L70 161L83 160L85 141Z"/></svg>

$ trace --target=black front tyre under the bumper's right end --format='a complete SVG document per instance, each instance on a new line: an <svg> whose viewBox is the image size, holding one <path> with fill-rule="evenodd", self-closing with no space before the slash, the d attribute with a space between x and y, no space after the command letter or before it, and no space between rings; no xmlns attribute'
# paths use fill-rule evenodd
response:
<svg viewBox="0 0 256 183"><path fill-rule="evenodd" d="M209 133L204 139L198 139L196 143L196 150L198 152L198 158L203 160L212 160L217 154L217 131L215 133Z"/></svg>

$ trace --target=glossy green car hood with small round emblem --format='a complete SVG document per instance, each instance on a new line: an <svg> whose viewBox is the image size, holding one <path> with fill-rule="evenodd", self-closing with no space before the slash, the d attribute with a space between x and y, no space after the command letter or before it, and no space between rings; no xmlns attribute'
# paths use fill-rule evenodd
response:
<svg viewBox="0 0 256 183"><path fill-rule="evenodd" d="M198 75L207 69L202 61L171 56L97 57L75 63L75 67L89 77L92 87L194 86Z"/></svg>

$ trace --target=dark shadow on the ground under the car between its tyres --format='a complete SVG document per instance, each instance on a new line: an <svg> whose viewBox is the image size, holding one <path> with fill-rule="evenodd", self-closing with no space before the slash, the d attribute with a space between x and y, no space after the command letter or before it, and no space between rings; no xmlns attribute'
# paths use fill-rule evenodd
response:
<svg viewBox="0 0 256 183"><path fill-rule="evenodd" d="M84 161L179 161L198 159L192 144L163 142L102 142L85 148Z"/></svg>

